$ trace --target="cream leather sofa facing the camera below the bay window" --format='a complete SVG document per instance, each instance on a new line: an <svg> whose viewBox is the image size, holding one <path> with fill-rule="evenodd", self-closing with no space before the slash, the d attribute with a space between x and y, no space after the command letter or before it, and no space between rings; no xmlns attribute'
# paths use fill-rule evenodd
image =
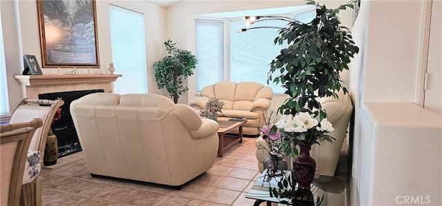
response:
<svg viewBox="0 0 442 206"><path fill-rule="evenodd" d="M265 123L273 90L257 82L222 81L202 88L201 96L189 105L195 110L202 110L212 96L224 102L219 116L245 118L247 123L242 126L242 134L257 135L260 134L258 127ZM238 129L233 132L238 132Z"/></svg>

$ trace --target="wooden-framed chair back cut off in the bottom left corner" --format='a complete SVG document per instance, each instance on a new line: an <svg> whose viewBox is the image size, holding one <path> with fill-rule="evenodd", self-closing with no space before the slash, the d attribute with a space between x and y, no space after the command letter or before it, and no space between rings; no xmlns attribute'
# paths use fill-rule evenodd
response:
<svg viewBox="0 0 442 206"><path fill-rule="evenodd" d="M25 123L0 125L0 205L19 205L26 154L41 119Z"/></svg>

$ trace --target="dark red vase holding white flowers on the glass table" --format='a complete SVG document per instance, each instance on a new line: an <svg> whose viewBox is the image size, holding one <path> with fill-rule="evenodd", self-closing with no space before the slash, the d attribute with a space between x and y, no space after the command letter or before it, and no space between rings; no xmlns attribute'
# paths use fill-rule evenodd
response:
<svg viewBox="0 0 442 206"><path fill-rule="evenodd" d="M316 161L310 156L311 144L299 145L300 153L293 160L293 174L300 189L310 189L316 171Z"/></svg>

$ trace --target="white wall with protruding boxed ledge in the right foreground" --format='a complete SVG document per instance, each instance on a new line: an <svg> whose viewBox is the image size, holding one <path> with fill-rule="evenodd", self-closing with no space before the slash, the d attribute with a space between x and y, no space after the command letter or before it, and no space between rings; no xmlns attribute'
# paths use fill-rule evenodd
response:
<svg viewBox="0 0 442 206"><path fill-rule="evenodd" d="M361 52L350 70L352 205L401 205L404 196L442 204L441 116L414 104L422 3L361 3L352 29Z"/></svg>

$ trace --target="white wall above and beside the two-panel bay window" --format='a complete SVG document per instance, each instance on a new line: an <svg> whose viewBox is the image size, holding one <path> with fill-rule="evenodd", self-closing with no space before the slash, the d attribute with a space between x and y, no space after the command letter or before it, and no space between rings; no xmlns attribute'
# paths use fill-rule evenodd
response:
<svg viewBox="0 0 442 206"><path fill-rule="evenodd" d="M347 1L319 1L327 8L337 8ZM177 46L190 50L195 54L195 15L218 12L233 12L242 10L258 10L264 8L278 8L287 6L304 6L306 1L180 1L167 9L168 36L177 43ZM214 6L215 5L215 6ZM340 21L348 28L352 25L352 10L343 10L339 13ZM180 103L188 103L197 96L196 75L188 79L189 92L183 94ZM273 96L269 111L277 111L278 107L287 99L285 95Z"/></svg>

